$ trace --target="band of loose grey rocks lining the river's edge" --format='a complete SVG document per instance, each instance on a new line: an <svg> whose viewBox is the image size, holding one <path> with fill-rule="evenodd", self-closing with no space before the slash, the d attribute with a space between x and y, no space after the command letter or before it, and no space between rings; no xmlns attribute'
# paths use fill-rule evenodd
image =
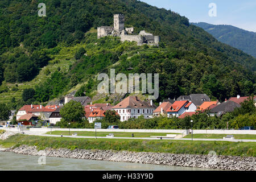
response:
<svg viewBox="0 0 256 182"><path fill-rule="evenodd" d="M59 158L160 164L180 167L214 168L232 171L256 171L256 161L254 157L168 154L112 150L69 150L67 148L46 148L45 150L38 151L36 146L24 145L16 148L6 148L3 151L14 152L16 154L38 156L45 155Z"/></svg>

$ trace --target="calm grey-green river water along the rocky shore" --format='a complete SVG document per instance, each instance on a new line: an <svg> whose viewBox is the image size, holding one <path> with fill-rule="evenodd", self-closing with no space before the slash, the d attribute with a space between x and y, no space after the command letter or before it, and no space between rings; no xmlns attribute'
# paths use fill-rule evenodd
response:
<svg viewBox="0 0 256 182"><path fill-rule="evenodd" d="M153 164L125 163L125 162L108 162L102 160L86 160L86 159L67 159L46 156L46 164L38 164L40 156L14 154L13 152L0 151L0 171L12 170L58 170L58 171L198 171L213 170L204 168L160 166ZM43 160L39 160L43 161Z"/></svg>

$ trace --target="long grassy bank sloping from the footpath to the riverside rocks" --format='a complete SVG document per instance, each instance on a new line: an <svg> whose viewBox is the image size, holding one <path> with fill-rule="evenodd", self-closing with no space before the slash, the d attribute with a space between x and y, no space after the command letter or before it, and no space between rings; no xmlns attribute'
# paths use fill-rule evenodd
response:
<svg viewBox="0 0 256 182"><path fill-rule="evenodd" d="M75 148L87 150L126 150L134 152L166 152L171 154L207 155L215 151L217 155L254 156L255 142L220 142L220 141L183 141L183 140L140 140L140 139L84 139L65 137L39 137L31 135L14 135L0 141L3 147L21 144L37 146L38 150L46 147Z"/></svg>

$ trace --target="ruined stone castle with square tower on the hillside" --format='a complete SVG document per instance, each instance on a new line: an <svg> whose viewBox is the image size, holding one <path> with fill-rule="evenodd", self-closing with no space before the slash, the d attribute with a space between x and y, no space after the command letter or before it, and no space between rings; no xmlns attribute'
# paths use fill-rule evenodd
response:
<svg viewBox="0 0 256 182"><path fill-rule="evenodd" d="M123 14L114 14L114 27L101 26L97 28L98 39L104 36L119 36L121 41L135 41L138 46L148 44L150 46L159 46L159 36L147 33L142 30L139 35L133 34L134 28L125 28L125 16Z"/></svg>

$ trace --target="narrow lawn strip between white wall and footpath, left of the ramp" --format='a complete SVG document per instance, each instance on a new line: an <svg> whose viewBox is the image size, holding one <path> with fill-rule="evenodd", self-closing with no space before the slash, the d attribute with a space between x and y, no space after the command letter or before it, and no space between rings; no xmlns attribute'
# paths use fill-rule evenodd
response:
<svg viewBox="0 0 256 182"><path fill-rule="evenodd" d="M95 136L95 131L71 131L70 134L77 133L78 136ZM113 133L114 137L131 137L132 133L127 132L97 132L97 137L106 137L106 135ZM50 134L47 132L46 134ZM69 135L69 131L52 131L52 135ZM133 133L134 137L150 137L150 136L166 136L166 134L177 133Z"/></svg>

